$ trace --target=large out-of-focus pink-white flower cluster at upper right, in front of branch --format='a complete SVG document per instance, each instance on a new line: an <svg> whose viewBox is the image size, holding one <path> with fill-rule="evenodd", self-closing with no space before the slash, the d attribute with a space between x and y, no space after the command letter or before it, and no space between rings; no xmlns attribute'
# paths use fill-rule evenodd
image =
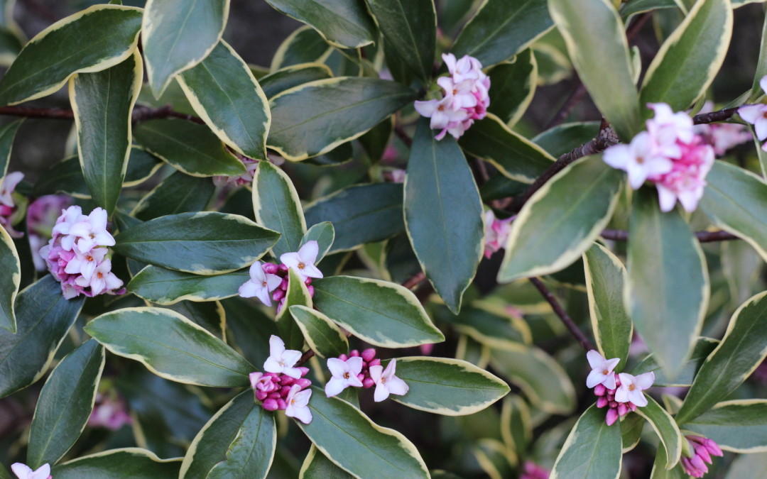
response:
<svg viewBox="0 0 767 479"><path fill-rule="evenodd" d="M628 145L606 149L604 162L626 171L633 189L648 180L655 183L661 211L671 211L679 201L687 212L693 212L703 197L714 149L694 132L693 119L686 113L674 113L666 103L647 106L655 111L647 120L647 131L638 133Z"/></svg>

